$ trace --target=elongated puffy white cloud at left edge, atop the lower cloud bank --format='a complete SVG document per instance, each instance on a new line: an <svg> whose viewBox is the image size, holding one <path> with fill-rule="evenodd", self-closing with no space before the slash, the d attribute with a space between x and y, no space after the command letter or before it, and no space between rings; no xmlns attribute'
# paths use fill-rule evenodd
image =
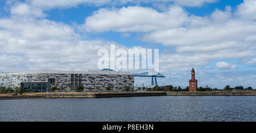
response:
<svg viewBox="0 0 256 133"><path fill-rule="evenodd" d="M12 31L23 39L78 39L77 34L71 26L47 19L0 19L2 30Z"/></svg>

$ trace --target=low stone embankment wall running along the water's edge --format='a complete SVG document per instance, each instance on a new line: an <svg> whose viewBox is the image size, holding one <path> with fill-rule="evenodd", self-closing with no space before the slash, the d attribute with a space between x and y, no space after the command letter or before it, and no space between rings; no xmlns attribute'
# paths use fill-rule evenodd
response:
<svg viewBox="0 0 256 133"><path fill-rule="evenodd" d="M0 99L28 98L106 98L106 97L143 97L160 95L256 95L256 91L215 91L215 92L51 92L23 93L22 95L1 94Z"/></svg>

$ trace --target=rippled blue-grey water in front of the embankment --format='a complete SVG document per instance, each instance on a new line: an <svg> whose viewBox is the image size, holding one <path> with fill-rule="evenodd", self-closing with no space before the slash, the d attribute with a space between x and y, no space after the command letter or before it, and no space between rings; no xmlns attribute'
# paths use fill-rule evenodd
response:
<svg viewBox="0 0 256 133"><path fill-rule="evenodd" d="M256 121L256 97L0 100L0 121Z"/></svg>

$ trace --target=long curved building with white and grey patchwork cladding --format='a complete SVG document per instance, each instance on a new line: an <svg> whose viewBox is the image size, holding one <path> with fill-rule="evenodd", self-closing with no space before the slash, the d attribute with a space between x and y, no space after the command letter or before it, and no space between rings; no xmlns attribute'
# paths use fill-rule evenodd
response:
<svg viewBox="0 0 256 133"><path fill-rule="evenodd" d="M23 87L33 92L48 92L53 86L67 92L84 86L84 92L125 92L125 87L134 89L134 77L129 72L116 71L66 71L66 70L32 70L26 72L0 73L0 86L6 88Z"/></svg>

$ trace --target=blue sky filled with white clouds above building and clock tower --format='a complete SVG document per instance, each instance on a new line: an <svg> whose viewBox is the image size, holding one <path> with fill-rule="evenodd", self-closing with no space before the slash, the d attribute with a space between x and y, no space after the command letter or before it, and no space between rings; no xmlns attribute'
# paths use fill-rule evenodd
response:
<svg viewBox="0 0 256 133"><path fill-rule="evenodd" d="M185 88L194 67L198 86L256 88L255 20L256 0L0 0L0 72L98 69L115 44L159 49L159 85Z"/></svg>

